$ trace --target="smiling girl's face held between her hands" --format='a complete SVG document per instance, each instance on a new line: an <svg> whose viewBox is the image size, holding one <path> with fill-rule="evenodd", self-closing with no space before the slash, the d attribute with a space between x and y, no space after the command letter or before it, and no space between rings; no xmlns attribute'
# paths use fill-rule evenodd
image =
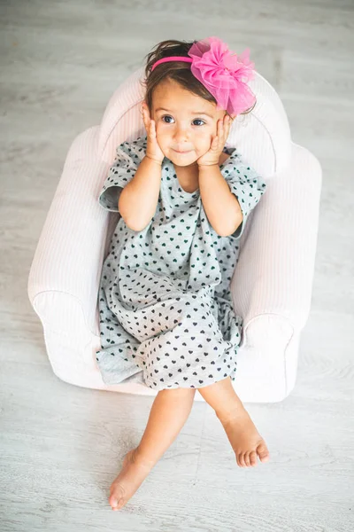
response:
<svg viewBox="0 0 354 532"><path fill-rule="evenodd" d="M216 104L170 79L159 83L152 95L151 118L156 123L158 145L174 166L194 165L208 152L218 120L225 114L222 109L217 111Z"/></svg>

